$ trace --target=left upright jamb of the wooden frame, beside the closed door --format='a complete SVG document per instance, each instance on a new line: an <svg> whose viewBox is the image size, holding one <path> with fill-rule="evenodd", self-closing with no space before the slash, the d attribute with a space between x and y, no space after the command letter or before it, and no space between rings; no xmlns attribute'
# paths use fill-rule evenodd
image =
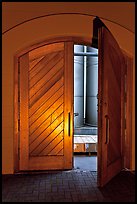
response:
<svg viewBox="0 0 137 204"><path fill-rule="evenodd" d="M19 170L19 155L18 155L18 58L14 60L14 172Z"/></svg>

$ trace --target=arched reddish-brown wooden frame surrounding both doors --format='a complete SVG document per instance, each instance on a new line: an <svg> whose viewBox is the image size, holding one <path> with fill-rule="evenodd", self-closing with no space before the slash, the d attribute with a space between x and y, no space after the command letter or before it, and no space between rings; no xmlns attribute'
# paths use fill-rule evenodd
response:
<svg viewBox="0 0 137 204"><path fill-rule="evenodd" d="M19 98L19 58L44 45L51 44L51 43L57 43L57 42L72 42L74 44L79 44L79 45L85 45L85 46L91 46L91 38L86 38L86 37L74 37L74 36L68 36L68 37L56 37L56 38L48 38L44 42L36 43L34 45L30 45L27 48L19 51L16 53L14 57L14 139L13 139L13 144L14 144L14 173L19 172L19 131L18 131L18 98ZM125 56L127 54L124 52ZM127 108L126 108L126 115L127 115L127 120L126 120L126 128L127 128L127 135L126 135L126 141L129 142L129 145L124 145L124 152L125 152L125 163L129 166L131 166L131 139L130 139L130 134L132 133L132 73L133 73L133 66L131 65L131 60L127 63L127 66L129 67L127 71L127 84L129 84L127 90L129 90L129 94L127 94ZM129 71L130 70L130 71ZM73 78L73 86L74 86L74 78ZM130 119L128 119L130 118ZM73 125L74 126L74 125ZM74 139L74 136L73 136ZM98 150L99 152L99 150ZM97 154L98 155L98 154Z"/></svg>

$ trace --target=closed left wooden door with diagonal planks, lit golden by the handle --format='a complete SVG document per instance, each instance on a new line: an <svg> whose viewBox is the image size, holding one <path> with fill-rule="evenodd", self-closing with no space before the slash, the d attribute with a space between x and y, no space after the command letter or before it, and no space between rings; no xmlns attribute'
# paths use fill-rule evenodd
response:
<svg viewBox="0 0 137 204"><path fill-rule="evenodd" d="M71 169L71 42L48 44L20 57L19 98L19 169Z"/></svg>

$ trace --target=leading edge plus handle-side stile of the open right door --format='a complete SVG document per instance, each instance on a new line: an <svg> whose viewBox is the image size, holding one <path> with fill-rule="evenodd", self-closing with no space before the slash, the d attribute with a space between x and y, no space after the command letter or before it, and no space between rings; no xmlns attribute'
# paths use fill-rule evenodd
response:
<svg viewBox="0 0 137 204"><path fill-rule="evenodd" d="M108 79L104 69L104 32L103 27L99 29L99 58L98 58L98 95L99 95L99 111L98 111L98 176L97 185L101 187L107 182L107 144L106 143L106 119L108 114Z"/></svg>

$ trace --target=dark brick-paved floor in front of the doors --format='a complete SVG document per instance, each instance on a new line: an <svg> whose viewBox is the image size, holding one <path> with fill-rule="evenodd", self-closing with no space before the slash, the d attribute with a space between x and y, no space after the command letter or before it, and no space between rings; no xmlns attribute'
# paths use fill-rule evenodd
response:
<svg viewBox="0 0 137 204"><path fill-rule="evenodd" d="M97 172L48 171L2 176L2 202L135 202L135 175L122 171L104 188Z"/></svg>

